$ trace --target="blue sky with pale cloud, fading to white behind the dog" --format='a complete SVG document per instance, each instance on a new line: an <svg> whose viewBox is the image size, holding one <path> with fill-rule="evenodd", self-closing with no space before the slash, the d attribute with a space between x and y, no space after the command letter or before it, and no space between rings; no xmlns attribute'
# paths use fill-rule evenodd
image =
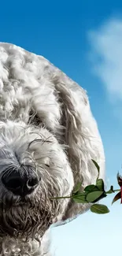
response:
<svg viewBox="0 0 122 256"><path fill-rule="evenodd" d="M82 85L98 121L107 184L122 164L122 2L1 2L0 41L41 54ZM105 216L86 213L52 230L55 256L119 255L122 206Z"/></svg>

